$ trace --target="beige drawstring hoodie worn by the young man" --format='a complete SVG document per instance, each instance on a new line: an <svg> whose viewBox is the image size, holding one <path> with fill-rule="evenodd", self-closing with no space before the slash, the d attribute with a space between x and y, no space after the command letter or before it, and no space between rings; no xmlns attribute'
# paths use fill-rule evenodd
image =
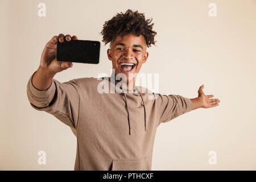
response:
<svg viewBox="0 0 256 182"><path fill-rule="evenodd" d="M75 170L151 170L157 127L192 110L189 98L142 86L129 93L119 81L111 82L112 76L53 79L47 90L36 89L32 76L27 84L31 106L55 116L77 137ZM98 92L102 85L107 93Z"/></svg>

